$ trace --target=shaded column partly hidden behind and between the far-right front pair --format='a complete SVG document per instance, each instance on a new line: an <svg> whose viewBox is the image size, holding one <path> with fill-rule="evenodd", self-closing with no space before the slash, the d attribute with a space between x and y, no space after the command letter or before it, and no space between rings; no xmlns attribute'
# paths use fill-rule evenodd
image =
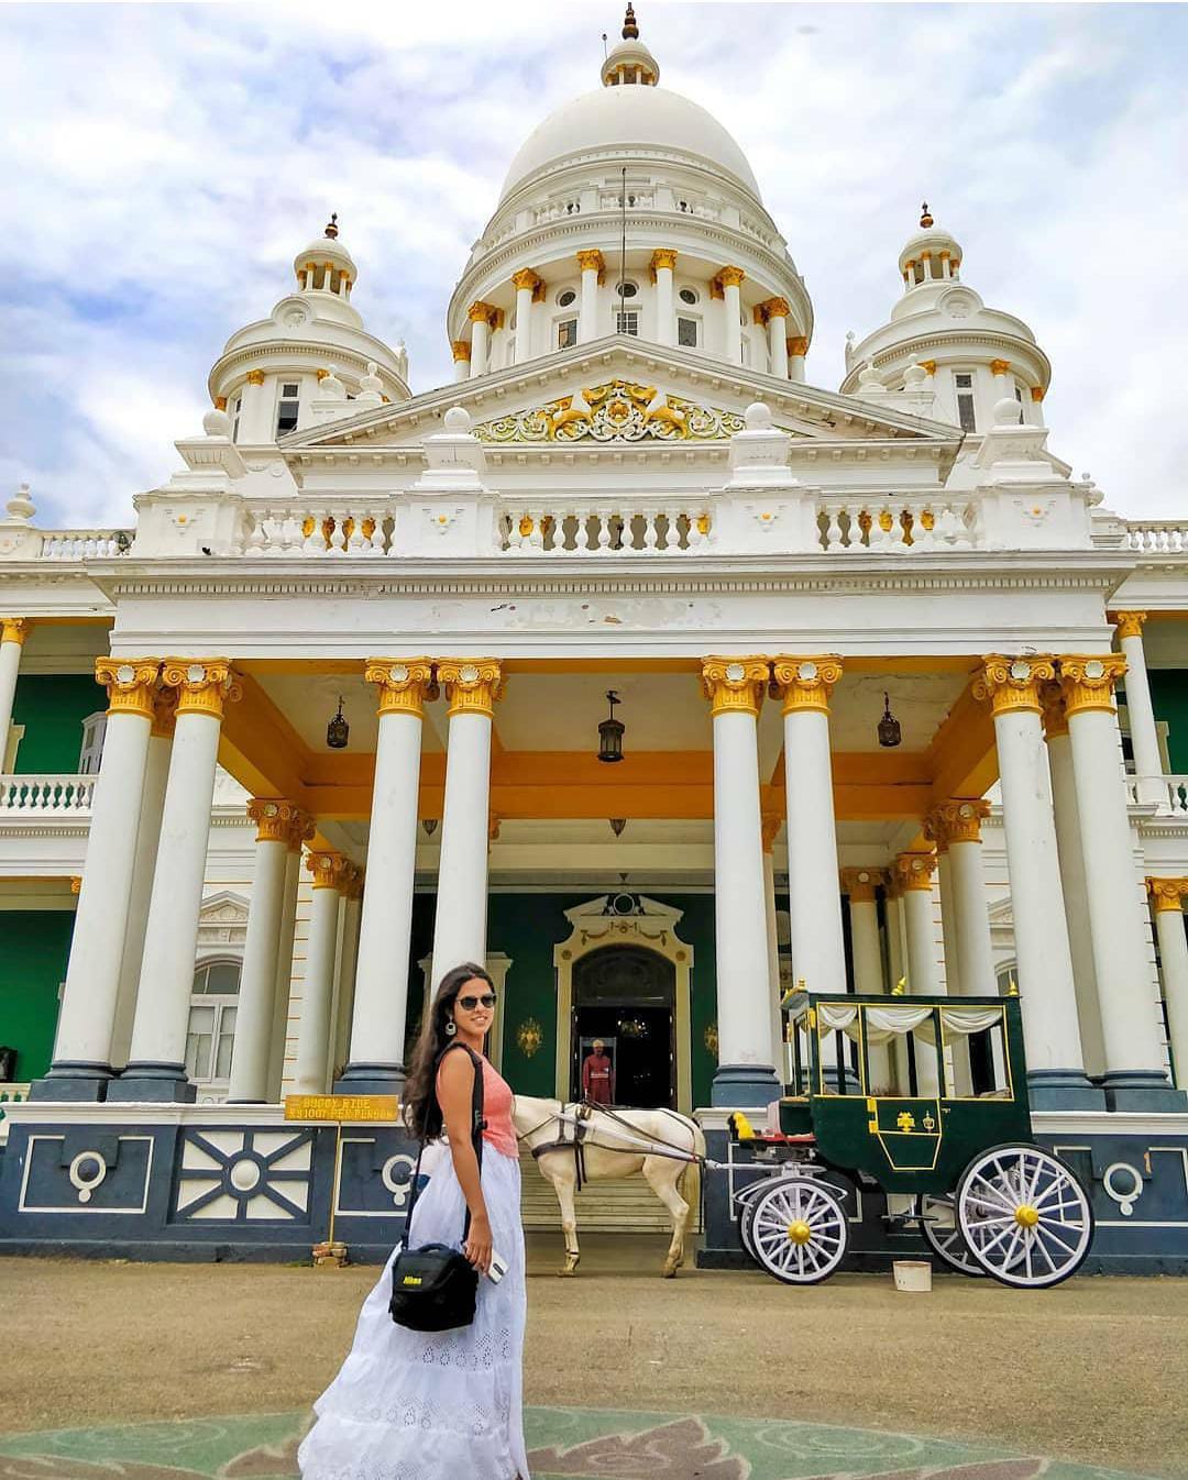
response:
<svg viewBox="0 0 1188 1480"><path fill-rule="evenodd" d="M1072 741L1064 715L1058 684L1046 684L1040 699L1044 706L1047 768L1052 778L1052 811L1056 820L1056 848L1061 857L1061 888L1068 921L1068 950L1077 989L1077 1018L1081 1030L1086 1073L1105 1072L1102 1015L1098 1006L1098 968L1093 963L1093 938L1089 932L1089 903L1084 889L1081 821L1077 808L1077 781L1072 774Z"/></svg>

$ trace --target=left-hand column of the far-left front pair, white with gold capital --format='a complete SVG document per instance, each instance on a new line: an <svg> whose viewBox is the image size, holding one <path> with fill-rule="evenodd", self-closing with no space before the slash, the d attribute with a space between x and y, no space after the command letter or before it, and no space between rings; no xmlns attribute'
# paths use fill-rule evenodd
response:
<svg viewBox="0 0 1188 1480"><path fill-rule="evenodd" d="M156 659L101 657L95 663L95 678L108 691L107 736L53 1066L34 1085L36 1100L102 1100L111 1088L111 1039L158 670Z"/></svg>

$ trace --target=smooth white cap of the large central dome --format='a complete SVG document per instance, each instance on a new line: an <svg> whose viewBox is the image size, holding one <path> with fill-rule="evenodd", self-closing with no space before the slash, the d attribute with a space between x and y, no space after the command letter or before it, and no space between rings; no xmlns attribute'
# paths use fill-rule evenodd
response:
<svg viewBox="0 0 1188 1480"><path fill-rule="evenodd" d="M664 87L616 86L582 93L533 129L511 161L499 203L539 172L624 149L677 155L761 198L747 155L705 108Z"/></svg>

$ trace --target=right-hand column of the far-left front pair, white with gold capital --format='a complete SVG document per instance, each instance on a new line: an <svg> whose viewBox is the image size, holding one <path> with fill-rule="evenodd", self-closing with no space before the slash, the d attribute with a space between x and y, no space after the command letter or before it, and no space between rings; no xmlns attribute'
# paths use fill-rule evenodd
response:
<svg viewBox="0 0 1188 1480"><path fill-rule="evenodd" d="M193 1100L185 1039L194 986L198 913L210 838L224 702L238 697L225 659L169 659L161 681L176 688L178 718L164 789L157 872L127 1069L108 1100Z"/></svg>

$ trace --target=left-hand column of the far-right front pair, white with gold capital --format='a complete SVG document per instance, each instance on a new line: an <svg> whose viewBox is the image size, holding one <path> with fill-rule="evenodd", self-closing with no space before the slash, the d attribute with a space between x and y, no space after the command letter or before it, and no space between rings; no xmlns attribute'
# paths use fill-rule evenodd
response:
<svg viewBox="0 0 1188 1480"><path fill-rule="evenodd" d="M1032 1109L1095 1110L1102 1098L1089 1085L1081 1060L1056 826L1040 733L1038 687L1053 673L1050 657L995 654L984 660L975 694L988 699L994 709Z"/></svg>

